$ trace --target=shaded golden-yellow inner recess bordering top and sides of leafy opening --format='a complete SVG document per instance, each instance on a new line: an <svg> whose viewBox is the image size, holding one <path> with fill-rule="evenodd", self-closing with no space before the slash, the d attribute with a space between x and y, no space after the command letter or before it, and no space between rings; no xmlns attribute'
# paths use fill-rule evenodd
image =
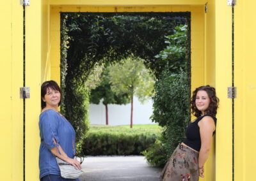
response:
<svg viewBox="0 0 256 181"><path fill-rule="evenodd" d="M204 6L51 6L51 78L60 82L60 11L61 12L143 12L191 11L191 87L204 84ZM192 61L193 60L193 61ZM195 76L196 78L193 78Z"/></svg>

